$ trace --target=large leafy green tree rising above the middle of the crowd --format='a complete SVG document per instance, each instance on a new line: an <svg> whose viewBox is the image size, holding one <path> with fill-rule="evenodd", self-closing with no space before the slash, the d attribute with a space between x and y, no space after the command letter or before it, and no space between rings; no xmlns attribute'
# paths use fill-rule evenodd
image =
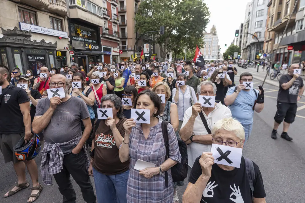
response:
<svg viewBox="0 0 305 203"><path fill-rule="evenodd" d="M167 52L181 54L201 45L209 11L202 0L144 0L136 13L136 31L145 33L165 27L165 34L154 33L161 58Z"/></svg>

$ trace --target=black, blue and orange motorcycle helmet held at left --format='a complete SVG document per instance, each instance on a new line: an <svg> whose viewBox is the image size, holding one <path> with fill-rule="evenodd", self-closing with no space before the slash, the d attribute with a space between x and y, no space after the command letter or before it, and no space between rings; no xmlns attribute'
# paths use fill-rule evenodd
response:
<svg viewBox="0 0 305 203"><path fill-rule="evenodd" d="M24 137L22 137L14 146L17 159L19 161L30 161L34 159L41 151L41 143L39 140L40 138L36 133L34 133L34 136L27 143L25 143Z"/></svg>

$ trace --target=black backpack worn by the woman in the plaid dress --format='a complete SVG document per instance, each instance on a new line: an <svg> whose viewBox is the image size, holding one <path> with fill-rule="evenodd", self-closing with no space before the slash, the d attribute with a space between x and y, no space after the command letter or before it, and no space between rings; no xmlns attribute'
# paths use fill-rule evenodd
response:
<svg viewBox="0 0 305 203"><path fill-rule="evenodd" d="M165 143L166 155L165 160L169 158L169 134L167 131L167 125L169 121L162 121L162 133ZM187 146L184 141L178 139L179 151L181 154L181 161L171 168L172 177L174 182L184 181L187 177L187 171L189 169L189 160L187 158ZM165 186L169 186L168 173L165 171Z"/></svg>

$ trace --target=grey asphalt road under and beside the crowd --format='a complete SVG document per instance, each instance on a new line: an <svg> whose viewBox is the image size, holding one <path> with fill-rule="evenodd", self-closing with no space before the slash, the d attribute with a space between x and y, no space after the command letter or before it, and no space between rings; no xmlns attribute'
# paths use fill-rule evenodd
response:
<svg viewBox="0 0 305 203"><path fill-rule="evenodd" d="M254 69L252 69L254 71ZM239 73L245 69L238 68ZM246 70L252 72L250 69ZM262 74L254 75L254 87L257 88L261 81ZM238 83L238 78L235 82ZM276 80L273 81L276 85ZM305 137L304 137L304 121L305 121L305 99L302 98L298 103L297 117L291 125L288 134L293 137L293 141L286 141L282 138L273 140L270 133L273 128L273 117L276 112L276 98L278 87L265 83L265 107L261 113L254 113L254 126L252 134L249 138L243 155L252 159L260 168L265 190L267 202L274 203L300 203L304 202L304 180L305 180ZM280 125L278 132L281 133L283 125ZM41 157L35 158L38 167L40 167ZM30 175L26 172L27 180L30 181ZM39 178L41 174L39 171ZM72 179L72 178L71 178ZM3 196L17 181L12 163L4 163L2 154L0 153L0 194ZM93 178L91 178L94 184ZM79 186L73 181L72 183L77 194L77 202L83 203L82 194ZM178 187L178 196L182 202L182 195L185 191L187 180L184 187ZM30 190L24 189L17 194L3 198L0 197L1 203L25 203L30 195ZM43 191L37 203L60 203L62 195L59 193L58 186L53 179L53 185L43 185Z"/></svg>

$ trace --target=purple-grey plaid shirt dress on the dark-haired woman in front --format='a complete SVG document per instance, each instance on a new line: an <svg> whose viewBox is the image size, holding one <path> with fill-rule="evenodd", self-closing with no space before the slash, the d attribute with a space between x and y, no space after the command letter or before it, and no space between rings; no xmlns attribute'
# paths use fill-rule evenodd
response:
<svg viewBox="0 0 305 203"><path fill-rule="evenodd" d="M173 202L173 179L171 170L168 170L169 186L165 187L165 173L157 174L148 179L139 175L134 169L138 159L161 165L165 161L165 145L161 128L162 120L150 128L148 138L145 140L140 123L132 127L129 136L129 177L127 182L128 203L171 203ZM180 162L178 141L173 126L168 125L169 133L169 158Z"/></svg>

